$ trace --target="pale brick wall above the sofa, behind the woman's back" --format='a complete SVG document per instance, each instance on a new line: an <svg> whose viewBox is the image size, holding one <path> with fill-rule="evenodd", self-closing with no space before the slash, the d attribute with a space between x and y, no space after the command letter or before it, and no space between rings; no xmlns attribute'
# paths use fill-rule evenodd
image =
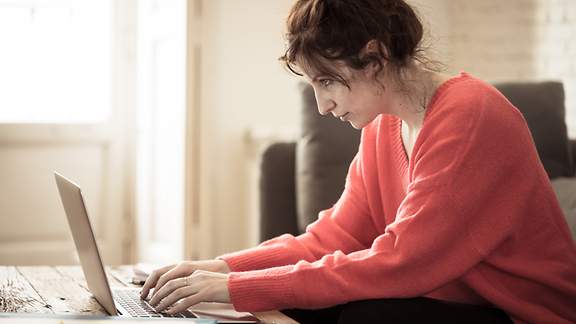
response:
<svg viewBox="0 0 576 324"><path fill-rule="evenodd" d="M412 2L431 21L449 71L488 81L562 81L566 123L576 137L576 1Z"/></svg>

